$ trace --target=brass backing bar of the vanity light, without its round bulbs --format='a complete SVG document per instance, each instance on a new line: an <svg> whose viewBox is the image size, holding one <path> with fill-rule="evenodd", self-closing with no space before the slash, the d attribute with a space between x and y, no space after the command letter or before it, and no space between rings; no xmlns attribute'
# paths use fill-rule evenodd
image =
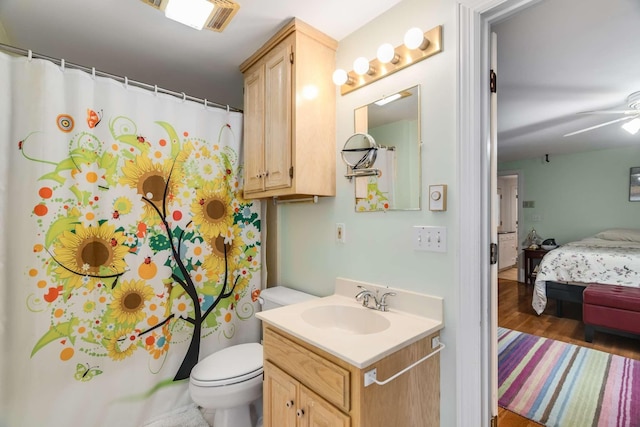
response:
<svg viewBox="0 0 640 427"><path fill-rule="evenodd" d="M346 95L356 89L360 89L363 86L373 83L382 77L388 76L400 71L409 65L422 61L436 53L442 52L442 25L438 25L424 33L424 40L428 40L429 43L425 49L422 46L418 46L415 49L409 49L404 44L395 48L394 60L397 57L397 61L382 63L377 58L369 61L369 72L362 75L356 74L354 71L347 73L347 82L340 86L340 94ZM426 41L424 42L426 44Z"/></svg>

